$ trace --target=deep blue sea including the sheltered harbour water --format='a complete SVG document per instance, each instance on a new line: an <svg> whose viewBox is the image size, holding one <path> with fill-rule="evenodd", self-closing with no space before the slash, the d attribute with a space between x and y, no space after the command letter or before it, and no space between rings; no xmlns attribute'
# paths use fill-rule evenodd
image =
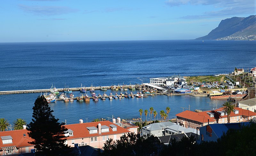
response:
<svg viewBox="0 0 256 156"><path fill-rule="evenodd" d="M110 86L149 82L149 78L180 74L212 75L256 66L256 41L97 41L0 43L0 91L85 86ZM129 90L128 90L129 91ZM106 91L109 94L111 90ZM130 91L129 91L130 92ZM135 92L135 91L133 91ZM136 91L137 92L137 91ZM99 94L100 91L96 91ZM116 92L112 92L115 94ZM120 92L117 92L120 93ZM77 96L79 93L74 92ZM0 95L0 118L28 122L39 93ZM139 117L139 109L165 110L170 117L190 105L190 110L210 110L224 100L208 97L155 96L140 99L99 100L90 103L50 103L55 117L67 124L80 118ZM145 119L145 116L144 116ZM161 117L158 115L158 119Z"/></svg>

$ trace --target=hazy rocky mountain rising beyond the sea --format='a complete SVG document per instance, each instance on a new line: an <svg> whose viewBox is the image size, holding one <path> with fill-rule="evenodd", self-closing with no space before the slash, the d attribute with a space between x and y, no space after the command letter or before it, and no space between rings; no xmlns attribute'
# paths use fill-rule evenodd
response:
<svg viewBox="0 0 256 156"><path fill-rule="evenodd" d="M256 15L246 18L232 17L221 20L219 26L208 35L197 39L219 39L236 36L256 35Z"/></svg>

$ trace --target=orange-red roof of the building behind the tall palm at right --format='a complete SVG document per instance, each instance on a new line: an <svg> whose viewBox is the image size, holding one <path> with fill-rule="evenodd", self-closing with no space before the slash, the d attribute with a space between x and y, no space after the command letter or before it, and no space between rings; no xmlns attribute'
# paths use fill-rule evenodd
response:
<svg viewBox="0 0 256 156"><path fill-rule="evenodd" d="M223 107L222 108L219 108L215 111L222 111L223 110ZM256 116L256 113L255 112L252 112L250 110L244 110L244 109L241 109L239 107L236 107L235 110L238 110L238 114L235 114L234 112L231 112L230 113L230 117L236 117L236 116L247 116L247 117L251 117L251 116ZM207 123L208 122L208 119L209 119L209 122L214 122L214 117L210 117L207 112L210 112L211 110L208 110L208 111L202 111L202 112L194 112L194 111L189 111L189 110L186 110L186 111L183 111L181 113L178 113L176 114L177 117L183 117L183 118L186 118L186 119L189 119L189 120L193 120L193 121L198 121L198 122L201 122L201 123ZM221 116L221 118L226 118L227 115L224 115L224 116Z"/></svg>

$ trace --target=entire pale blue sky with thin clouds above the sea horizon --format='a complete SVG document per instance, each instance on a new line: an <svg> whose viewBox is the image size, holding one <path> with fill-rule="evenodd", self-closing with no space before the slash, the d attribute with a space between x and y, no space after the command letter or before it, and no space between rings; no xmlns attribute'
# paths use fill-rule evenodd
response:
<svg viewBox="0 0 256 156"><path fill-rule="evenodd" d="M0 42L195 39L255 0L2 0Z"/></svg>

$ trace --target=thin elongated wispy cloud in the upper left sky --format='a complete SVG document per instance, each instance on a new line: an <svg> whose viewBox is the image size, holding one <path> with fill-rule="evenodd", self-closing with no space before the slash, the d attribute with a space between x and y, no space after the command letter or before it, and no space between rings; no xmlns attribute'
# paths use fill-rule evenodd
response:
<svg viewBox="0 0 256 156"><path fill-rule="evenodd" d="M28 5L19 5L19 8L23 11L33 13L39 16L53 16L53 15L62 15L67 13L72 13L78 11L77 9L72 9L65 6L28 6Z"/></svg>

